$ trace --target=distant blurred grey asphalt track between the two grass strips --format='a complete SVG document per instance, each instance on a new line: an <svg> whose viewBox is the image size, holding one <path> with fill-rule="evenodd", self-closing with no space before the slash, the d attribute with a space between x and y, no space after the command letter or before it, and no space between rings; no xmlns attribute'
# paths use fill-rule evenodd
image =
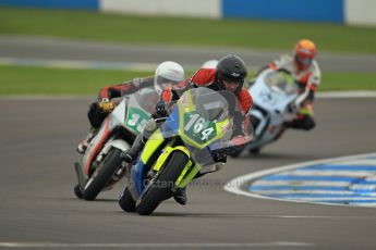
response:
<svg viewBox="0 0 376 250"><path fill-rule="evenodd" d="M102 66L123 67L125 64L126 67L128 64L146 64L146 67L151 70L162 61L172 60L181 63L184 68L196 70L207 60L220 59L226 54L234 53L241 55L250 68L257 70L289 52L244 48L124 46L110 42L0 35L0 63L1 58L84 61L86 63L100 61ZM376 55L318 53L317 61L323 72L376 72ZM100 67L98 64L96 66Z"/></svg>

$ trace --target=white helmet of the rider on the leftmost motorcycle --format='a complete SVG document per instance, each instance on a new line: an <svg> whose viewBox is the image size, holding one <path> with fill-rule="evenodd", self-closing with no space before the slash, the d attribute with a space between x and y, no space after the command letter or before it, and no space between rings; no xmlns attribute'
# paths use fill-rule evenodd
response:
<svg viewBox="0 0 376 250"><path fill-rule="evenodd" d="M184 68L179 63L166 61L160 63L156 70L154 86L158 95L161 95L166 87L172 87L173 85L183 82L183 79Z"/></svg>

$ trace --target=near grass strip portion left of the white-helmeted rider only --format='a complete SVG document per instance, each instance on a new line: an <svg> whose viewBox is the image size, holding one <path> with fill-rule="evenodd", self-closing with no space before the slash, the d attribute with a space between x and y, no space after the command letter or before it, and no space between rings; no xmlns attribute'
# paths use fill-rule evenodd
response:
<svg viewBox="0 0 376 250"><path fill-rule="evenodd" d="M0 95L97 95L106 85L121 84L153 72L62 70L0 66Z"/></svg>

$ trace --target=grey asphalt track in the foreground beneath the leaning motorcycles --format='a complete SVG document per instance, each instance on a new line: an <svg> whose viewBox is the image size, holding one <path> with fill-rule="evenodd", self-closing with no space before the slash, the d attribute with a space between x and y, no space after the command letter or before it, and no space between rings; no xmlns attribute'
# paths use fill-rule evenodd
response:
<svg viewBox="0 0 376 250"><path fill-rule="evenodd" d="M189 204L124 213L122 185L78 200L73 162L92 100L0 99L1 249L375 249L376 209L235 196L228 180L250 172L376 151L376 99L318 99L318 126L289 130L259 155L230 159L190 187Z"/></svg>

